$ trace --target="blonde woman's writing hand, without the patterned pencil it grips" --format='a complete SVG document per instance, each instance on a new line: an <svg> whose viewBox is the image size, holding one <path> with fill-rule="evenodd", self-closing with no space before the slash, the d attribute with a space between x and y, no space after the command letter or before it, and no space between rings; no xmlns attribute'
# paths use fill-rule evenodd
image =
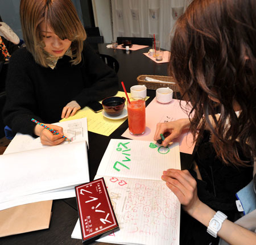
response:
<svg viewBox="0 0 256 245"><path fill-rule="evenodd" d="M41 143L43 145L49 145L49 146L54 146L54 145L59 145L64 141L63 138L63 128L60 126L52 125L52 124L45 124L49 128L55 129L59 134L53 134L50 130L43 128L40 125L36 125L34 129L34 133L37 136L40 136Z"/></svg>

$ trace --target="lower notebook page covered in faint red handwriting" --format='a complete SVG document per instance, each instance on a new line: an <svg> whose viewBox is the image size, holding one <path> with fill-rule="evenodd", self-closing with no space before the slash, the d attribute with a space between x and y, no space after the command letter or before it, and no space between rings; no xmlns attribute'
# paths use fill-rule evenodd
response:
<svg viewBox="0 0 256 245"><path fill-rule="evenodd" d="M180 202L164 181L106 176L104 180L120 230L98 242L179 244Z"/></svg>

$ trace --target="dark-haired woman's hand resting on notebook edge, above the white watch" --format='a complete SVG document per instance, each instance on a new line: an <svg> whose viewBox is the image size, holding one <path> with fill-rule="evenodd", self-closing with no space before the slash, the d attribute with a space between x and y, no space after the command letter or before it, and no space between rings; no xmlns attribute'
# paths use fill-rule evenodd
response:
<svg viewBox="0 0 256 245"><path fill-rule="evenodd" d="M201 201L197 196L196 180L188 170L168 169L163 171L162 180L166 181L167 187L177 196L183 209L192 215Z"/></svg>

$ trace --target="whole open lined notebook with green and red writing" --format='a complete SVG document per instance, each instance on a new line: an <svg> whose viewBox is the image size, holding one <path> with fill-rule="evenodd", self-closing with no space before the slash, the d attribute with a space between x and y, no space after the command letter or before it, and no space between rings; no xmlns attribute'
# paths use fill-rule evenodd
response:
<svg viewBox="0 0 256 245"><path fill-rule="evenodd" d="M95 179L104 177L120 230L97 240L119 244L179 244L180 202L161 180L180 169L179 143L110 140ZM81 239L79 221L72 238Z"/></svg>

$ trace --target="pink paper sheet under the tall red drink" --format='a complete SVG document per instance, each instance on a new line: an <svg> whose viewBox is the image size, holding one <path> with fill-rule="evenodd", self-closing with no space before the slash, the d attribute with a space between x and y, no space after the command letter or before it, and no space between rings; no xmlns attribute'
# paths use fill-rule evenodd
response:
<svg viewBox="0 0 256 245"><path fill-rule="evenodd" d="M181 101L181 107L186 108L186 102ZM142 136L133 136L129 128L122 134L125 138L133 140L154 141L156 124L164 121L175 121L177 119L188 118L186 112L180 107L180 100L173 99L168 104L160 104L154 98L146 107L146 131ZM187 107L188 111L189 108ZM192 154L195 147L191 132L184 132L174 142L179 142L180 152Z"/></svg>

